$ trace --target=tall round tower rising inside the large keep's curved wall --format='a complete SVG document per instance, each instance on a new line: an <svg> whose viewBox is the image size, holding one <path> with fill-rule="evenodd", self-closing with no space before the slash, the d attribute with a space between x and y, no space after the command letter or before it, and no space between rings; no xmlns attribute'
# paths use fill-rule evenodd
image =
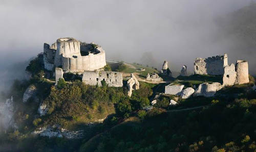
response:
<svg viewBox="0 0 256 152"><path fill-rule="evenodd" d="M62 66L62 57L80 56L80 42L74 38L57 39L55 67Z"/></svg>

